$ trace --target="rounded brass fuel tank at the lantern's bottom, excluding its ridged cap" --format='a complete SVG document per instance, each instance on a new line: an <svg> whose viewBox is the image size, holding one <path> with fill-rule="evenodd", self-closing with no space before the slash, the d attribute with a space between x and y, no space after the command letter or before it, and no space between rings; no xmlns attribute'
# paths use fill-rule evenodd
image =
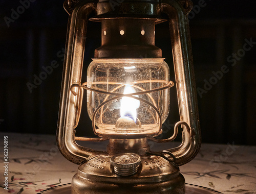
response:
<svg viewBox="0 0 256 194"><path fill-rule="evenodd" d="M141 155L138 171L133 176L116 175L110 158L98 155L82 163L72 179L72 194L185 194L185 179L179 167L161 156Z"/></svg>

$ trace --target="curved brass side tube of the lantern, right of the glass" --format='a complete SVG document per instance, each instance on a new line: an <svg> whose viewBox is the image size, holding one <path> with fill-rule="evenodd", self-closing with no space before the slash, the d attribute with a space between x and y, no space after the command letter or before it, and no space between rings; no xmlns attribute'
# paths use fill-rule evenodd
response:
<svg viewBox="0 0 256 194"><path fill-rule="evenodd" d="M183 165L197 155L201 146L201 132L188 18L184 7L178 1L163 0L161 9L161 11L167 15L169 21L180 119L186 122L193 130L191 139L189 132L183 130L183 142L181 146L168 150L175 155L177 165Z"/></svg>

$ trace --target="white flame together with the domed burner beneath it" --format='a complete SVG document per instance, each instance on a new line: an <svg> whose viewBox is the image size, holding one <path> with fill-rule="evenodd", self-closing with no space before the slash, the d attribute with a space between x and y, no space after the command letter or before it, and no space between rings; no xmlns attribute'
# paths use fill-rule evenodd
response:
<svg viewBox="0 0 256 194"><path fill-rule="evenodd" d="M135 90L130 86L126 85L124 87L123 94L135 93ZM138 97L138 95L135 95ZM121 99L120 115L121 117L117 119L116 128L130 129L130 128L140 128L141 123L137 118L137 108L140 107L140 101L124 96Z"/></svg>

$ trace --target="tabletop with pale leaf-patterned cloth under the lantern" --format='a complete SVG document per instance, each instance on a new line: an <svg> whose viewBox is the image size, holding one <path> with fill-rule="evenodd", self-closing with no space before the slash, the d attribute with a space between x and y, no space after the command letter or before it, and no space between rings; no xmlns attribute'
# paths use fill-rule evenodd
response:
<svg viewBox="0 0 256 194"><path fill-rule="evenodd" d="M40 193L71 182L78 166L60 154L54 135L0 133L3 140L4 136L8 136L9 163L4 163L4 141L1 140L0 193ZM102 150L106 142L89 144L89 148ZM163 150L176 144L152 142L151 148ZM222 193L256 193L256 147L203 143L196 158L180 166L180 171L189 184ZM8 190L2 182L5 177L8 177Z"/></svg>

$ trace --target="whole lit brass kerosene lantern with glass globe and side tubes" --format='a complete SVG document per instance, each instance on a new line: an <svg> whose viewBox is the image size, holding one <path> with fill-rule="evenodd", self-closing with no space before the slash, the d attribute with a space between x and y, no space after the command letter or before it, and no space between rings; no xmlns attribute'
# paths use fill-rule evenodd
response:
<svg viewBox="0 0 256 194"><path fill-rule="evenodd" d="M186 0L68 0L70 14L59 109L60 152L79 164L72 193L185 193L180 165L199 151L201 135ZM102 45L81 83L88 20L101 22ZM180 122L174 134L157 139L169 112L169 68L155 46L155 25L169 22ZM146 56L142 58L141 56ZM87 90L87 110L99 138L76 137ZM152 152L148 139L175 139L177 148ZM86 127L85 127L86 128ZM81 147L76 140L105 141L105 152Z"/></svg>

